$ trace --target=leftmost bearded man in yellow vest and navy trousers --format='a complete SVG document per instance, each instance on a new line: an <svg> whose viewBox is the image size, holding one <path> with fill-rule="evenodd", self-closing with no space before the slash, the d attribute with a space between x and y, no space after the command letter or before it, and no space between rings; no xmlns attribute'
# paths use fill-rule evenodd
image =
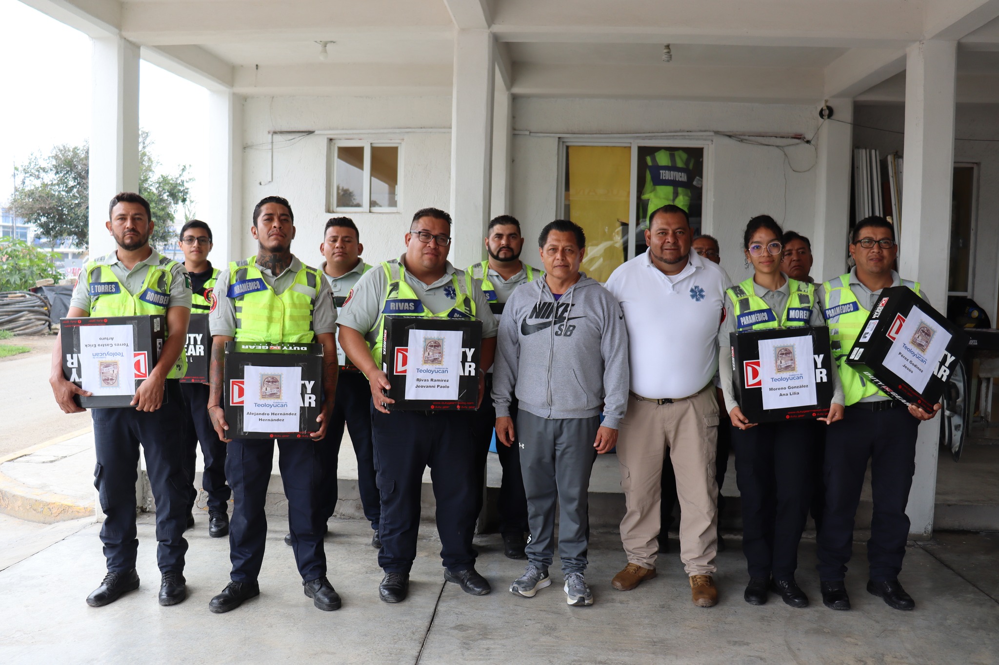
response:
<svg viewBox="0 0 999 665"><path fill-rule="evenodd" d="M141 445L156 500L156 554L163 575L159 601L175 605L187 597L184 554L188 543L183 533L190 515L190 486L177 440L185 423L178 379L187 372L184 343L191 317L191 281L184 266L149 245L154 222L145 198L123 191L111 199L109 207L106 226L118 247L84 266L66 316L165 315L167 337L156 366L135 393L134 408L91 411L97 455L94 485L105 515L101 540L108 574L87 604L107 605L139 588L135 484ZM52 351L49 383L63 412L79 413L85 410L73 398L90 393L63 377L61 337L62 333Z"/></svg>

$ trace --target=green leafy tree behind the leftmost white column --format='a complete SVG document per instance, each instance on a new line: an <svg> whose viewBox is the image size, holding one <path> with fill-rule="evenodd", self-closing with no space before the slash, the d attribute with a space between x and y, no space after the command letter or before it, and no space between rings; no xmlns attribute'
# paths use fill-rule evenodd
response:
<svg viewBox="0 0 999 665"><path fill-rule="evenodd" d="M160 163L152 148L149 133L143 130L139 136L139 193L149 201L156 222L150 242L157 249L165 249L177 239L177 214L183 212L185 220L193 214L193 178L187 172L190 166L181 166L176 173L158 173ZM88 244L89 157L86 143L62 145L46 157L33 155L27 164L15 168L17 180L11 198L14 214L33 223L50 246L67 237L73 238L78 247Z"/></svg>

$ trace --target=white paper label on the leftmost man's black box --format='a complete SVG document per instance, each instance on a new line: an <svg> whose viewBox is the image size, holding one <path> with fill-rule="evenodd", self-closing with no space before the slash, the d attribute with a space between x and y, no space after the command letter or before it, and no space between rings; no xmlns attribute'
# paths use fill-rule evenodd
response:
<svg viewBox="0 0 999 665"><path fill-rule="evenodd" d="M81 387L95 396L135 395L133 348L132 326L81 326Z"/></svg>

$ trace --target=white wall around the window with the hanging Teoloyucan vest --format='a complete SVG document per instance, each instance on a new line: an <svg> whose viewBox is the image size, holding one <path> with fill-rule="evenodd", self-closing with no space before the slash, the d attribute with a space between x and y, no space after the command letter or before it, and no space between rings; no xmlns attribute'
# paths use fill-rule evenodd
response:
<svg viewBox="0 0 999 665"><path fill-rule="evenodd" d="M817 112L808 106L515 98L513 128L541 134L647 134L666 132L801 133L811 137L818 128ZM706 182L713 197L713 214L705 232L721 243L722 266L733 280L750 273L743 266L742 230L750 217L769 214L785 229L812 235L815 228L817 169L795 173L773 148L713 138L713 180ZM795 169L815 164L811 147L789 150ZM558 140L513 137L512 214L523 224L531 243L540 228L555 218L562 187L557 182ZM705 171L707 172L707 171ZM786 190L785 190L786 175ZM705 179L707 179L705 174ZM524 256L527 255L525 249Z"/></svg>

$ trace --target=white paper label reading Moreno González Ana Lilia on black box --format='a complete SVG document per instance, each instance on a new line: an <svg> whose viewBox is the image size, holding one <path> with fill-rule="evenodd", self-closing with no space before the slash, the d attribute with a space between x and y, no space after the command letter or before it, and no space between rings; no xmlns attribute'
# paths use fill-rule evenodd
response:
<svg viewBox="0 0 999 665"><path fill-rule="evenodd" d="M761 339L759 379L764 409L810 407L815 396L815 361L810 335Z"/></svg>

